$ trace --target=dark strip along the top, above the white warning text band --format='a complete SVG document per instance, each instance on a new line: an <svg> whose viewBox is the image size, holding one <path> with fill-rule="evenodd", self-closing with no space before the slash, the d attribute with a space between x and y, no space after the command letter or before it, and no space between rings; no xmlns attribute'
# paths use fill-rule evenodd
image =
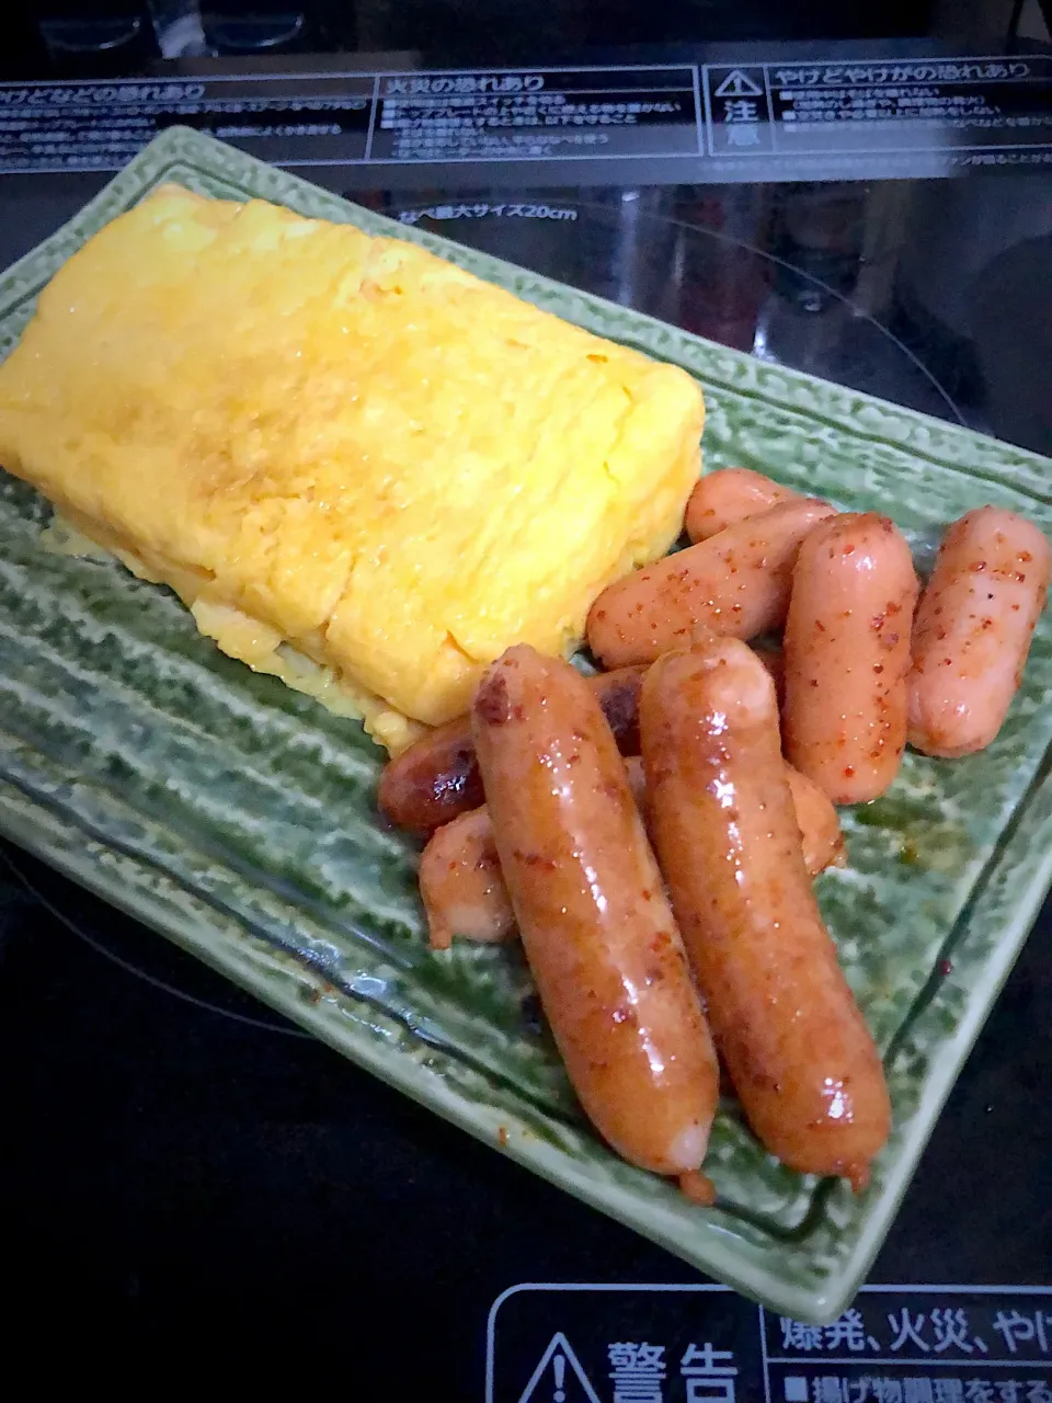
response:
<svg viewBox="0 0 1052 1403"><path fill-rule="evenodd" d="M1049 0L1030 4L1046 11ZM31 0L1 21L0 79L135 72L187 11L201 15L212 53L417 49L452 65L742 39L1000 42L1032 25L1025 10L1024 0Z"/></svg>

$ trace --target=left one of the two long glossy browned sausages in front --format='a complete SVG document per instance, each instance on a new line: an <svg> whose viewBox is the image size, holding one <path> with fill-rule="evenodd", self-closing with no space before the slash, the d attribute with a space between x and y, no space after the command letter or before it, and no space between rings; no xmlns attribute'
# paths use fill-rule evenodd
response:
<svg viewBox="0 0 1052 1403"><path fill-rule="evenodd" d="M581 1103L626 1159L704 1159L718 1069L610 728L558 658L509 648L473 730L512 908Z"/></svg>

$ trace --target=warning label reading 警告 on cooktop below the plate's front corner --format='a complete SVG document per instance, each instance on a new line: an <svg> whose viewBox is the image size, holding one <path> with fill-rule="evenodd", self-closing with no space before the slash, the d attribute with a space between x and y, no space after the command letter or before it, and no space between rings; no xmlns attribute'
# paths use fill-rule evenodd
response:
<svg viewBox="0 0 1052 1403"><path fill-rule="evenodd" d="M485 1397L1052 1403L1052 1288L865 1287L811 1324L725 1287L512 1287L490 1310Z"/></svg>

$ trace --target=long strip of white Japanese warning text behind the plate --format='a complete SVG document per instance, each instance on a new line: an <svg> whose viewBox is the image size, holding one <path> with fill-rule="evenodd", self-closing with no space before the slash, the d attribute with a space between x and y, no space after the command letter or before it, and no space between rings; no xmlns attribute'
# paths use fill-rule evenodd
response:
<svg viewBox="0 0 1052 1403"><path fill-rule="evenodd" d="M1052 168L1052 59L7 83L0 173L118 170L177 123L279 166L348 167L351 188L424 164L487 184L603 184L634 161L649 184Z"/></svg>

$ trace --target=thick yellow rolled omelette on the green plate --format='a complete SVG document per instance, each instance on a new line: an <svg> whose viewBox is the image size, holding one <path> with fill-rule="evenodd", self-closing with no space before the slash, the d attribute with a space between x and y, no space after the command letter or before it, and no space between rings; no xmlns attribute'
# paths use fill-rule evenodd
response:
<svg viewBox="0 0 1052 1403"><path fill-rule="evenodd" d="M701 390L415 244L167 185L0 366L0 464L389 749L676 537Z"/></svg>

